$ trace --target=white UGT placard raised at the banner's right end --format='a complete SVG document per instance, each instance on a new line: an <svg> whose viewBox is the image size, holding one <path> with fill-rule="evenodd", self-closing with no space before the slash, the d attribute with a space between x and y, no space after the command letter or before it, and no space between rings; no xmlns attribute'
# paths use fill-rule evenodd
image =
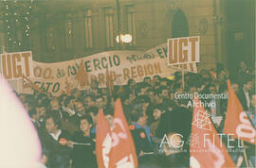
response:
<svg viewBox="0 0 256 168"><path fill-rule="evenodd" d="M199 36L174 38L167 41L168 64L177 65L199 62Z"/></svg>

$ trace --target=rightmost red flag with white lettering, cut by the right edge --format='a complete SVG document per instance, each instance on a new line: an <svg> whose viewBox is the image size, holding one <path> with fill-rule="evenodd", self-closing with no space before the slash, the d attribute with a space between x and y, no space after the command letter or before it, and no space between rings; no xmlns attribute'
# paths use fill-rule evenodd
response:
<svg viewBox="0 0 256 168"><path fill-rule="evenodd" d="M239 99L232 90L229 80L228 89L228 109L223 132L233 138L256 144L256 130L251 125L247 113L244 111Z"/></svg>

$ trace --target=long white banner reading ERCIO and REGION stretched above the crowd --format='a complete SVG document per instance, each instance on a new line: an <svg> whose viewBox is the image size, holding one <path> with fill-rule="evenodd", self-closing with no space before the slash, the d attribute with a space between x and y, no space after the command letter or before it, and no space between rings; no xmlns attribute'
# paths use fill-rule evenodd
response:
<svg viewBox="0 0 256 168"><path fill-rule="evenodd" d="M81 61L88 75L86 76L86 80L89 81L87 84L90 84L91 78L96 78L100 88L106 87L107 66L115 85L125 85L130 78L141 82L145 76L173 76L177 71L168 66L167 45L164 43L146 52L108 51L64 62L33 61L34 78L30 79L44 91L60 95L67 83L71 89L78 87L79 81L75 76L78 74ZM32 93L30 88L23 87L22 81L19 86L19 92Z"/></svg>

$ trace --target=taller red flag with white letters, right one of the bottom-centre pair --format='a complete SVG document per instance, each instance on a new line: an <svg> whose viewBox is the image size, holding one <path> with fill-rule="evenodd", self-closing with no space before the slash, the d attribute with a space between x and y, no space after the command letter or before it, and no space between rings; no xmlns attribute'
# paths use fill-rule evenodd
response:
<svg viewBox="0 0 256 168"><path fill-rule="evenodd" d="M116 102L114 126L111 132L112 143L110 168L137 167L137 155L133 138L122 111L120 99Z"/></svg>

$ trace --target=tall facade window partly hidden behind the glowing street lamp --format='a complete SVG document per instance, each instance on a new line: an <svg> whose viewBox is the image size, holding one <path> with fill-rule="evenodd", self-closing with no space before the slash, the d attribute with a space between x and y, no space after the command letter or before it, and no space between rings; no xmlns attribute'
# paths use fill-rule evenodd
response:
<svg viewBox="0 0 256 168"><path fill-rule="evenodd" d="M127 32L132 35L133 41L130 42L130 45L136 44L136 20L135 20L134 6L126 7L126 19L127 19Z"/></svg>

